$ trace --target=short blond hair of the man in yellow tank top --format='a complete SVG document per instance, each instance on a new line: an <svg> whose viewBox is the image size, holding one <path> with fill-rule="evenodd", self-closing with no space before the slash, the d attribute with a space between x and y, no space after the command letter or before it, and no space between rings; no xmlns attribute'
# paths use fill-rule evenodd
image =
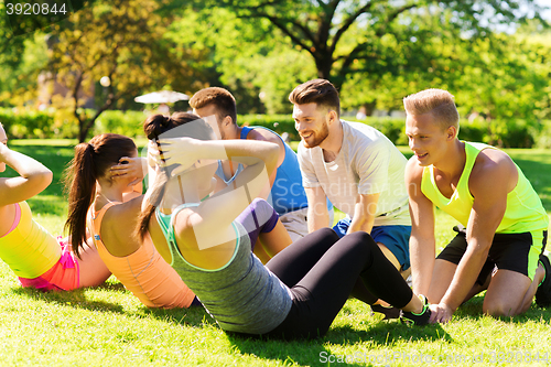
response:
<svg viewBox="0 0 551 367"><path fill-rule="evenodd" d="M460 128L460 112L455 107L453 95L443 89L425 89L403 98L403 107L408 115L432 114L443 129L451 126Z"/></svg>

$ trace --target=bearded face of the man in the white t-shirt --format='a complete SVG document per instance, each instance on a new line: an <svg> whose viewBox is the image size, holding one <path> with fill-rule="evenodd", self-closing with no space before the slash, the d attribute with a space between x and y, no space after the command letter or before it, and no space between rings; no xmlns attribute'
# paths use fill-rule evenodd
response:
<svg viewBox="0 0 551 367"><path fill-rule="evenodd" d="M306 148L320 145L329 134L329 111L317 104L294 105L294 127Z"/></svg>

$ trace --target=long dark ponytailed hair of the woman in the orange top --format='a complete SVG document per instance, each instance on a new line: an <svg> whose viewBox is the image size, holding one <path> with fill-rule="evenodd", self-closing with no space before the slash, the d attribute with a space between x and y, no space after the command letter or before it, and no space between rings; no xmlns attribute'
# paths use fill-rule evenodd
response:
<svg viewBox="0 0 551 367"><path fill-rule="evenodd" d="M65 170L68 217L64 229L68 229L73 250L78 257L87 239L86 216L94 202L96 180L104 177L111 165L134 151L132 139L116 133L102 133L75 147L75 158Z"/></svg>

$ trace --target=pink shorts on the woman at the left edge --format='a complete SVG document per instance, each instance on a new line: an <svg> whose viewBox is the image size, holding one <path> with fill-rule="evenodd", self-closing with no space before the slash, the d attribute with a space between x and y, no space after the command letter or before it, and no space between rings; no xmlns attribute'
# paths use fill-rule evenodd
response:
<svg viewBox="0 0 551 367"><path fill-rule="evenodd" d="M19 277L19 282L23 287L35 288L41 291L71 291L77 289L79 279L78 262L73 253L67 248L67 244L62 240L62 237L57 237L57 241L62 247L62 257L57 262L45 273L37 278L21 278Z"/></svg>

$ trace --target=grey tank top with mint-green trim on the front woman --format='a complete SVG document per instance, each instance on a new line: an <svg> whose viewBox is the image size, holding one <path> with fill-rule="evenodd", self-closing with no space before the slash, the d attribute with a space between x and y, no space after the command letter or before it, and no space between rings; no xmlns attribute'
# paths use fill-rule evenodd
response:
<svg viewBox="0 0 551 367"><path fill-rule="evenodd" d="M251 252L250 239L241 224L234 222L237 245L229 262L220 269L202 269L180 253L172 218L191 205L180 205L171 215L155 211L172 253L171 266L197 295L220 327L229 332L266 334L285 320L291 292Z"/></svg>

